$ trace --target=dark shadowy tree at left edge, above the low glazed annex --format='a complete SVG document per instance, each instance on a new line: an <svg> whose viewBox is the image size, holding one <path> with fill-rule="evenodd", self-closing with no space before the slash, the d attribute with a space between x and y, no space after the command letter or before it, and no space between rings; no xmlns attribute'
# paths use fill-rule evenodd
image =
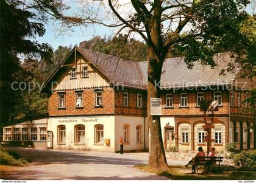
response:
<svg viewBox="0 0 256 183"><path fill-rule="evenodd" d="M20 90L12 89L14 81L20 78L21 58L35 57L49 60L52 49L48 44L32 41L45 33L44 23L52 15L62 16L67 9L62 1L19 1L0 0L0 122L9 124L19 109ZM18 110L18 111L17 111ZM2 128L1 128L2 129Z"/></svg>

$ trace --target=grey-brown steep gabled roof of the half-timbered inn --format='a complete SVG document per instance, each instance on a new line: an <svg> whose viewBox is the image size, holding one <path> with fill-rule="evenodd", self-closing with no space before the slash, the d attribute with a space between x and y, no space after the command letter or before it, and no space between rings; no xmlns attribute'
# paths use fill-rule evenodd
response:
<svg viewBox="0 0 256 183"><path fill-rule="evenodd" d="M148 61L135 62L124 60L119 57L101 54L82 47L74 47L74 50L82 54L96 69L108 78L114 85L121 85L128 88L146 89L148 80ZM66 60L71 57L68 55ZM217 86L231 85L240 69L236 68L235 72L219 75L221 69L227 69L229 63L234 63L234 60L229 54L216 54L213 58L217 66L212 69L210 66L202 66L199 62L195 62L193 69L188 69L187 64L181 57L167 58L163 63L161 75L161 88L182 88L187 86ZM64 60L56 69L54 74L49 77L43 86L42 91L49 85L49 82L57 75Z"/></svg>

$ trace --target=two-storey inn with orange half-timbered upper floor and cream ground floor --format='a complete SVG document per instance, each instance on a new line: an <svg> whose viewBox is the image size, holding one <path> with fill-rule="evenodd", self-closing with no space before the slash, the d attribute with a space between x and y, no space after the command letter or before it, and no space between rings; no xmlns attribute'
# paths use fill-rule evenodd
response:
<svg viewBox="0 0 256 183"><path fill-rule="evenodd" d="M233 60L229 54L214 59L215 69L199 63L188 69L183 58L168 58L163 63L161 83L155 85L163 91L160 119L165 149L206 149L201 100L218 100L214 116L207 112L217 150L224 150L229 142L236 142L241 150L255 148L254 118L246 110L252 106L244 102L255 78L242 78L240 69L219 75ZM147 78L147 61L74 47L42 90L49 94L51 147L116 152L122 136L125 151L148 148Z"/></svg>

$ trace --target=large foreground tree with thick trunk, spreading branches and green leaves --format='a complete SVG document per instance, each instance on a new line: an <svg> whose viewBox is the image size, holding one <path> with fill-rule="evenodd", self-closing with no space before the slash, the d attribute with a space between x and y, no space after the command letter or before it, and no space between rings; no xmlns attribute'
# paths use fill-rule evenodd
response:
<svg viewBox="0 0 256 183"><path fill-rule="evenodd" d="M239 22L247 17L247 0L104 0L82 1L82 14L64 21L67 26L100 24L137 33L148 46L148 125L151 133L149 166L166 170L160 116L150 115L150 98L160 97L163 61L168 51L182 54L188 67L194 61L216 66L213 56L229 51L240 55ZM105 16L104 16L105 13ZM113 15L113 16L111 16ZM113 38L116 37L113 36ZM231 46L229 46L229 44ZM244 55L247 53L243 53ZM249 55L249 54L248 54ZM241 57L238 57L238 59ZM159 85L157 85L159 86ZM154 120L154 123L152 123Z"/></svg>

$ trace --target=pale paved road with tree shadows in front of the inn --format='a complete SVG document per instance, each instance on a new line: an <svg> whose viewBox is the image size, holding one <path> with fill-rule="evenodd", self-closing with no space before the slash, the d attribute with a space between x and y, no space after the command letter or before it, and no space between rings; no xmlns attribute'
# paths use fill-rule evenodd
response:
<svg viewBox="0 0 256 183"><path fill-rule="evenodd" d="M94 151L57 151L13 148L32 163L13 171L0 171L1 179L166 179L133 168L147 164L148 153L114 154ZM170 165L184 161L168 160Z"/></svg>

